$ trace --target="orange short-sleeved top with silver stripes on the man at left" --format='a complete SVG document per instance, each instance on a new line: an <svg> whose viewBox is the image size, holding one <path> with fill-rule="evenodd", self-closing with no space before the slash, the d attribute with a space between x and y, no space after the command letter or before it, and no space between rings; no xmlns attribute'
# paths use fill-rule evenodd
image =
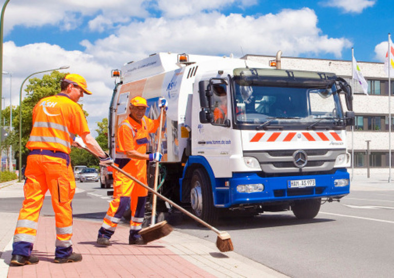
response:
<svg viewBox="0 0 394 278"><path fill-rule="evenodd" d="M80 105L65 94L40 100L33 109L33 127L26 147L71 152L75 135L90 133Z"/></svg>

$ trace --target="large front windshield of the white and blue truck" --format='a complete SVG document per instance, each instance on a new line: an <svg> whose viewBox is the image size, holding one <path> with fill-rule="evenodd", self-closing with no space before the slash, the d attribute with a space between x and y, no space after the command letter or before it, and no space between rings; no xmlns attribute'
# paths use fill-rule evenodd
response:
<svg viewBox="0 0 394 278"><path fill-rule="evenodd" d="M343 118L334 82L292 81L234 77L235 123L316 128L337 125Z"/></svg>

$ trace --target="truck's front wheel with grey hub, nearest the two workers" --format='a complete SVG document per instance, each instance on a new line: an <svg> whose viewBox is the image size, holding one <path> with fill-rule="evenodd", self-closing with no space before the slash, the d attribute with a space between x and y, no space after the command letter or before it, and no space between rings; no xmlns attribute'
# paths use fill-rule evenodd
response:
<svg viewBox="0 0 394 278"><path fill-rule="evenodd" d="M212 187L207 173L202 169L195 169L190 185L190 202L194 215L207 223L215 223L219 210L213 205Z"/></svg>

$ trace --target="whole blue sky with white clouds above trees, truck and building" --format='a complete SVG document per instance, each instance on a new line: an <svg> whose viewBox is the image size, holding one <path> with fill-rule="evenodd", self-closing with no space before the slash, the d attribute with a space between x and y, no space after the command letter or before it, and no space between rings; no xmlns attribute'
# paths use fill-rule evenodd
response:
<svg viewBox="0 0 394 278"><path fill-rule="evenodd" d="M3 5L4 0L0 3ZM151 53L274 55L383 62L392 0L10 0L3 70L12 103L30 73L63 65L93 91L89 126L107 117L110 70ZM242 49L242 50L241 50ZM40 77L40 76L38 76ZM9 105L9 76L3 96Z"/></svg>

